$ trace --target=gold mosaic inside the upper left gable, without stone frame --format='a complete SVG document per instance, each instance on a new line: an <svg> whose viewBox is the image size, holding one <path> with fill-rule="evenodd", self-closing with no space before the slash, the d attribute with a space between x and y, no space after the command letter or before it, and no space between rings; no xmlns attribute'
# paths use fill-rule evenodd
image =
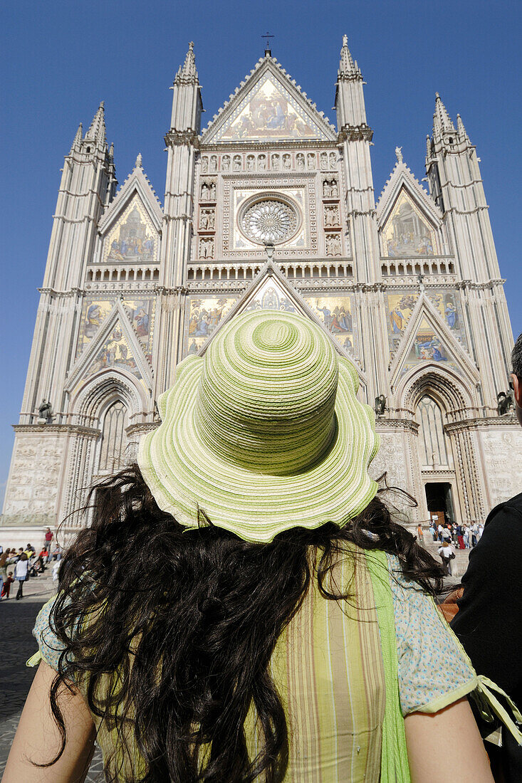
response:
<svg viewBox="0 0 522 783"><path fill-rule="evenodd" d="M156 258L157 246L158 234L135 196L105 239L103 261L151 262Z"/></svg>

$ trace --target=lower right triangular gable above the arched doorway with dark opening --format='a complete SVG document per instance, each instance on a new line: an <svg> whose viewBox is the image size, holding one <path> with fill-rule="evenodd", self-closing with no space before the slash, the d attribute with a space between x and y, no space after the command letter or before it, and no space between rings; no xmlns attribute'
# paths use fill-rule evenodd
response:
<svg viewBox="0 0 522 783"><path fill-rule="evenodd" d="M448 367L470 383L479 381L477 367L425 292L415 303L390 363L391 386L420 365Z"/></svg>

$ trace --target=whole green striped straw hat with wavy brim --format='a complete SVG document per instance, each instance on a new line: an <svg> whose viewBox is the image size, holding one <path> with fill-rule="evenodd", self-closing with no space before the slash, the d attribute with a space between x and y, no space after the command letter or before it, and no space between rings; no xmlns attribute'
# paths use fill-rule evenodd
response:
<svg viewBox="0 0 522 783"><path fill-rule="evenodd" d="M310 319L235 316L205 358L176 367L158 400L161 426L140 442L143 478L158 506L190 528L198 511L252 542L343 526L377 492L368 464L379 436L358 385Z"/></svg>

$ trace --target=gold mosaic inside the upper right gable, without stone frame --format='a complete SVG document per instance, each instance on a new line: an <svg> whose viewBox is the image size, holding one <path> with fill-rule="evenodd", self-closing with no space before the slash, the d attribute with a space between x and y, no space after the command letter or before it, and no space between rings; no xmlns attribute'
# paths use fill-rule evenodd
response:
<svg viewBox="0 0 522 783"><path fill-rule="evenodd" d="M382 243L389 256L438 253L435 232L404 191L382 229Z"/></svg>

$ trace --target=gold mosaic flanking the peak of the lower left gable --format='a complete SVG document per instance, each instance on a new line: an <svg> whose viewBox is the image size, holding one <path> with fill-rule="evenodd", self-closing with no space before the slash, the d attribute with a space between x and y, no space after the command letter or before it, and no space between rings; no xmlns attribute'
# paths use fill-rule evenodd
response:
<svg viewBox="0 0 522 783"><path fill-rule="evenodd" d="M82 306L82 322L78 334L76 356L78 357L100 329L100 326L114 308L113 298L87 297ZM155 299L123 299L121 304L129 314L129 320L143 345L143 352L152 359L152 341L154 336Z"/></svg>

